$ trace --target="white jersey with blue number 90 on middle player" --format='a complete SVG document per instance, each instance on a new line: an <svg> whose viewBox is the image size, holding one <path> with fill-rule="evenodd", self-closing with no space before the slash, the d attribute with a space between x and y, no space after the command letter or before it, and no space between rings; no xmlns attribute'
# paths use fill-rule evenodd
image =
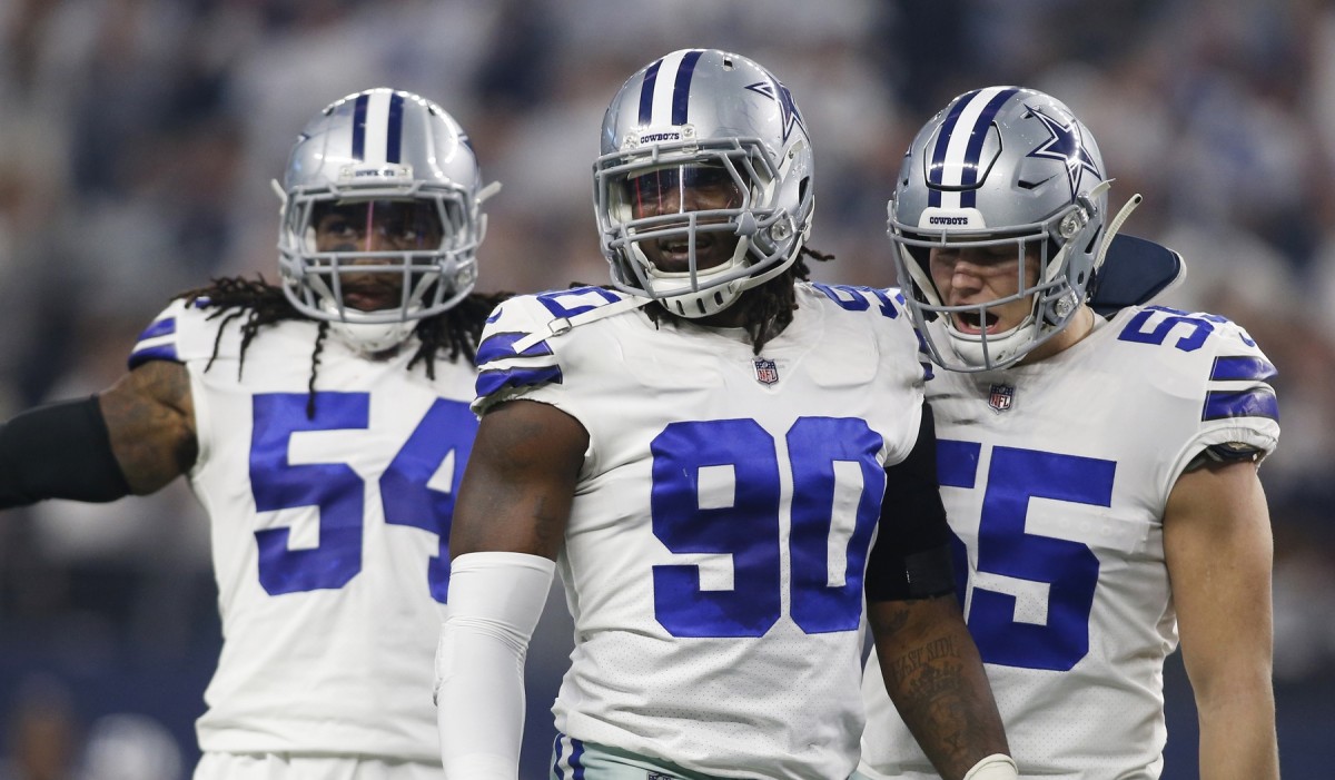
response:
<svg viewBox="0 0 1335 780"><path fill-rule="evenodd" d="M884 469L921 421L908 318L884 291L800 283L760 355L740 330L639 309L517 350L622 298L514 298L478 353L475 409L551 403L589 433L558 560L575 648L555 725L712 776L848 777Z"/></svg>

